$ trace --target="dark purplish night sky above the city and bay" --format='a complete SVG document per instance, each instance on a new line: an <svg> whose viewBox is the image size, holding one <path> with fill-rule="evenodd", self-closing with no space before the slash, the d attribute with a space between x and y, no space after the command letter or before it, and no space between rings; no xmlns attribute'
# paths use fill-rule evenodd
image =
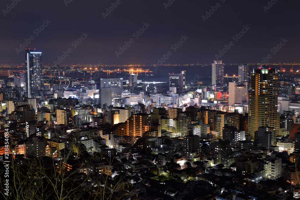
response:
<svg viewBox="0 0 300 200"><path fill-rule="evenodd" d="M68 48L72 52L61 64L155 64L168 51L172 55L164 64L212 63L230 41L234 45L219 59L224 63L257 63L268 54L270 62L300 62L300 1L273 0L265 12L267 0L169 0L173 3L167 9L168 0L120 0L106 19L102 13L114 0L73 0L67 6L70 0L20 0L4 16L12 1L17 0L0 1L0 63L23 63L25 50L18 55L16 49L31 35L34 40L26 48L41 51L44 64L58 61ZM202 15L217 3L204 22ZM44 20L51 23L36 36ZM149 28L136 39L134 32L146 22ZM243 26L250 29L234 40ZM82 32L88 36L74 49ZM182 35L188 39L174 52L171 46ZM119 46L131 38L134 42L117 58ZM282 38L288 41L271 52Z"/></svg>

